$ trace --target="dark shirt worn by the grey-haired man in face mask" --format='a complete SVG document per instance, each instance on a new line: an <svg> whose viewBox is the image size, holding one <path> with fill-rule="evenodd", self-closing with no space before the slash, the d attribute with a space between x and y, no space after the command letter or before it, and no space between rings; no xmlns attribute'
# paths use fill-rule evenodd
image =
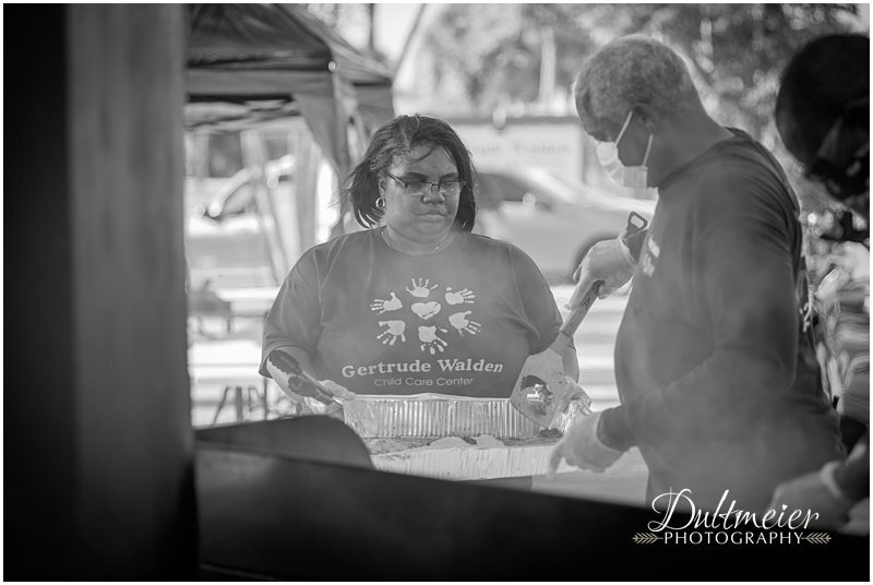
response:
<svg viewBox="0 0 873 585"><path fill-rule="evenodd" d="M766 505L781 480L841 454L805 318L797 199L746 134L659 186L615 344L622 406L608 443L638 445L649 498L725 490Z"/></svg>

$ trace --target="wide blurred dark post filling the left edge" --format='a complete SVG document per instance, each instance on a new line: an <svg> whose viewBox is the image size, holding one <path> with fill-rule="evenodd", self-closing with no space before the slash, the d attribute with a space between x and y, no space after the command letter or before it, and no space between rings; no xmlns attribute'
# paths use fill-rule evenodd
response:
<svg viewBox="0 0 873 585"><path fill-rule="evenodd" d="M183 7L4 15L4 577L195 578Z"/></svg>

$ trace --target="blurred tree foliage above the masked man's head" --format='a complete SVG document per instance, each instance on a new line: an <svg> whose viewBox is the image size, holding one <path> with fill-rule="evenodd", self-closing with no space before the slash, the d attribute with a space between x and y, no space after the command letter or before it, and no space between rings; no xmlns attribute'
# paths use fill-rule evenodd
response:
<svg viewBox="0 0 873 585"><path fill-rule="evenodd" d="M686 59L719 121L767 142L788 58L813 37L848 31L856 12L854 4L451 4L423 47L435 82L456 77L462 105L490 112L501 102L536 100L545 28L554 31L563 88L597 46L653 36Z"/></svg>

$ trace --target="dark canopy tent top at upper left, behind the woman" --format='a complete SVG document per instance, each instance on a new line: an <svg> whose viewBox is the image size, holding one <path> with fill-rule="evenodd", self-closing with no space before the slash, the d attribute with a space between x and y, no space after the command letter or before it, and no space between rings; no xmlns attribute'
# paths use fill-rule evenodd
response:
<svg viewBox="0 0 873 585"><path fill-rule="evenodd" d="M187 61L189 129L302 115L339 177L348 124L369 133L394 117L391 71L302 7L189 4Z"/></svg>

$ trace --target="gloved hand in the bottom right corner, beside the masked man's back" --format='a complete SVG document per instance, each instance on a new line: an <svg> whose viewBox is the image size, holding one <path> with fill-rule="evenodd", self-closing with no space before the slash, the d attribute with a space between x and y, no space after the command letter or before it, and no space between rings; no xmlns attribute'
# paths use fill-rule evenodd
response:
<svg viewBox="0 0 873 585"><path fill-rule="evenodd" d="M840 462L830 462L822 469L791 479L777 486L767 510L801 510L815 512L818 517L810 526L837 530L849 521L849 511L854 503L846 498L834 479L834 471Z"/></svg>

